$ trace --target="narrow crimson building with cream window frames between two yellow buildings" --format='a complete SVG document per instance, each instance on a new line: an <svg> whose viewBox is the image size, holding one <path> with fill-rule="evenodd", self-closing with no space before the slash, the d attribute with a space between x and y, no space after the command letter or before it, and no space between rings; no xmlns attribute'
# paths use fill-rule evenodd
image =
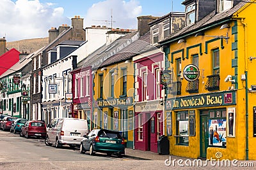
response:
<svg viewBox="0 0 256 170"><path fill-rule="evenodd" d="M148 53L148 52L147 52ZM151 50L150 55L133 58L135 63L135 149L157 152L157 140L163 133L160 72L163 53Z"/></svg>

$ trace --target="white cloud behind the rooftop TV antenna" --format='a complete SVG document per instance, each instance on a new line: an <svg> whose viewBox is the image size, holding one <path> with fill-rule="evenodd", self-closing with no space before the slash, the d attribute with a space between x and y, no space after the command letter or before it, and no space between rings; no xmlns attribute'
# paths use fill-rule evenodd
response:
<svg viewBox="0 0 256 170"><path fill-rule="evenodd" d="M111 21L111 10L113 16L113 27L120 27L124 29L136 29L137 18L142 7L138 0L120 1L120 0L106 0L100 3L95 3L87 11L84 19L86 27L91 25L106 25L105 20ZM110 22L108 27L111 27Z"/></svg>

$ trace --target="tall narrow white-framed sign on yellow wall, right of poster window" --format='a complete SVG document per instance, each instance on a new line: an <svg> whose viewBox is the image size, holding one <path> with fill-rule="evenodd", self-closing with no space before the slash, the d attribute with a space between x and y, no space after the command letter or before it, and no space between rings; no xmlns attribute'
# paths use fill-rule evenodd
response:
<svg viewBox="0 0 256 170"><path fill-rule="evenodd" d="M227 109L228 122L227 122L227 135L228 137L236 136L236 108Z"/></svg>

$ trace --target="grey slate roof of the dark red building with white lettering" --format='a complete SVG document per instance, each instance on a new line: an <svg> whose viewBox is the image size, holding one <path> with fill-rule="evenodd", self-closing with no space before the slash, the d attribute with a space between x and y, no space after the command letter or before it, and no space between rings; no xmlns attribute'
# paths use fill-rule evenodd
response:
<svg viewBox="0 0 256 170"><path fill-rule="evenodd" d="M101 46L95 50L95 52L88 55L88 57L81 60L81 62L77 64L77 69L89 66L92 66L92 69L97 69L102 63L108 60L109 57L112 57L115 55L115 53L120 52L123 48L125 48L125 46L128 46L129 43L132 43L136 37L138 38L138 31L134 31L126 36L122 36L108 46L106 44Z"/></svg>

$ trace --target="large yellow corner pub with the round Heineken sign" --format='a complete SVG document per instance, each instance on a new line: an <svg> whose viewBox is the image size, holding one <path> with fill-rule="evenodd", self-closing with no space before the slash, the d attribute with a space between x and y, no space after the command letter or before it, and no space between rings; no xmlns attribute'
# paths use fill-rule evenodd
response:
<svg viewBox="0 0 256 170"><path fill-rule="evenodd" d="M170 155L255 160L256 6L216 2L184 1L186 27L159 42L173 73L165 108Z"/></svg>

